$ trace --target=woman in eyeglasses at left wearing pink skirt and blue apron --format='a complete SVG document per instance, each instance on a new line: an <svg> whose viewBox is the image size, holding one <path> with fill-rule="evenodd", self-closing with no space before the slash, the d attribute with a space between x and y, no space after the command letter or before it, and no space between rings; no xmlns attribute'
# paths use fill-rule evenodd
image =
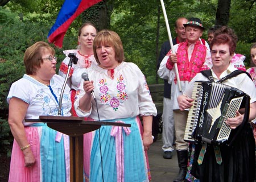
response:
<svg viewBox="0 0 256 182"><path fill-rule="evenodd" d="M58 115L63 77L56 75L55 50L36 42L24 53L26 74L15 81L7 96L14 136L9 181L69 181L69 138L46 123L26 122L39 115ZM61 114L69 116L71 101L66 86Z"/></svg>

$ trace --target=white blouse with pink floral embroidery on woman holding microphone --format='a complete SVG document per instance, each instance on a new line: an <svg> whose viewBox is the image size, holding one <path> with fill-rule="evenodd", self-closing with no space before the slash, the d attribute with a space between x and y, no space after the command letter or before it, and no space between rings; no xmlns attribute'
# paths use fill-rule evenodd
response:
<svg viewBox="0 0 256 182"><path fill-rule="evenodd" d="M100 120L136 117L137 115L156 115L146 78L137 65L122 62L114 69L114 78L108 76L108 70L92 64L84 69L89 80L94 81L94 93L97 98ZM75 109L79 116L98 120L96 102L92 98L92 109L87 113L79 109L79 99L84 95L82 83L77 92Z"/></svg>

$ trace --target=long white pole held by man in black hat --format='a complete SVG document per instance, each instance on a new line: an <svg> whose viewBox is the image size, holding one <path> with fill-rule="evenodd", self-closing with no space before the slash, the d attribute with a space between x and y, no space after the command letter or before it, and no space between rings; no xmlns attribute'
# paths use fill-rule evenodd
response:
<svg viewBox="0 0 256 182"><path fill-rule="evenodd" d="M168 33L172 53L174 53L174 44L172 43L172 35L171 35L171 31L170 31L170 26L169 26L167 14L166 14L166 8L164 7L163 0L160 0L160 2L161 2L161 5L162 5L162 9L163 9L164 20L166 20L166 28L167 28L167 33ZM175 72L176 72L177 85L179 86L179 90L181 92L180 76L179 76L179 70L177 69L177 63L174 63L174 69L175 69Z"/></svg>

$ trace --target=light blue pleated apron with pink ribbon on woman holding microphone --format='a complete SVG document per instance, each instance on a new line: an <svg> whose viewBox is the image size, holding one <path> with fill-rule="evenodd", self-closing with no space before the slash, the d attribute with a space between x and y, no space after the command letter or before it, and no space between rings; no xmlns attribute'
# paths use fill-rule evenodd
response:
<svg viewBox="0 0 256 182"><path fill-rule="evenodd" d="M89 181L103 181L102 176L106 182L148 181L146 155L137 118L115 119L109 122L117 121L131 124L131 127L128 127L130 134L126 134L124 127L120 127L122 134L118 139L118 134L115 137L111 135L113 126L101 126L94 131ZM116 140L122 139L123 142L116 144Z"/></svg>

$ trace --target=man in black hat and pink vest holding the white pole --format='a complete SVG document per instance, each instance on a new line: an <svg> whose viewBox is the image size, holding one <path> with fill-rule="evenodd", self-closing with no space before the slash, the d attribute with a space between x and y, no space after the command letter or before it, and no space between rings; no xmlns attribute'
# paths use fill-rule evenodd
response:
<svg viewBox="0 0 256 182"><path fill-rule="evenodd" d="M187 173L188 143L184 141L188 110L180 111L177 97L183 94L185 87L201 70L211 67L210 50L201 43L204 27L199 18L191 18L184 24L187 40L176 44L164 57L159 72L170 72L168 82L171 87L171 101L174 111L176 151L179 174L174 181L183 181ZM172 52L173 51L173 52ZM181 91L177 83L174 64L177 64Z"/></svg>

